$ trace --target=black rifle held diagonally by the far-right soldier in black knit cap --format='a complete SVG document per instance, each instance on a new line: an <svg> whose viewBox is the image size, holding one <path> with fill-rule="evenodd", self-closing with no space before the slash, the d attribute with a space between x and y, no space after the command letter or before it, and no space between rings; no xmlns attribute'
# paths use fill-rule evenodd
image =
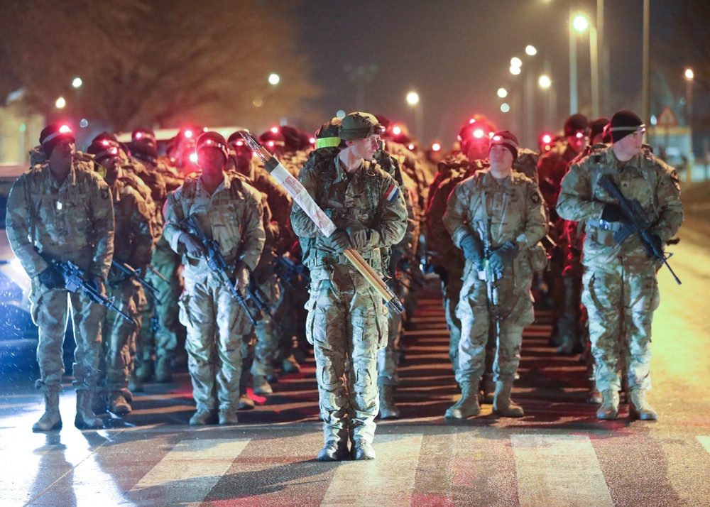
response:
<svg viewBox="0 0 710 507"><path fill-rule="evenodd" d="M645 246L646 251L651 254L650 256L658 261L662 261L668 268L668 271L670 271L670 274L672 274L676 283L680 285L680 279L668 264L668 259L673 254L666 256L662 247L658 246L655 241L653 241L650 232L651 223L648 217L646 217L641 203L637 200L626 199L621 193L621 190L619 190L619 187L616 186L616 183L613 182L610 175L604 175L599 180L599 186L618 201L621 212L627 220L627 222L623 222L621 228L614 233L613 238L616 244L621 245L631 234L638 234L641 241L643 241L643 246Z"/></svg>

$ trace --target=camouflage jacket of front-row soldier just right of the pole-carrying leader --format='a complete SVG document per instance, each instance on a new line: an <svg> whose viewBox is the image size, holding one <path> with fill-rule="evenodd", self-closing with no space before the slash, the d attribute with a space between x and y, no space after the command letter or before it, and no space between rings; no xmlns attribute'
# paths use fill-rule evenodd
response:
<svg viewBox="0 0 710 507"><path fill-rule="evenodd" d="M443 222L456 246L461 248L461 239L470 234L487 252L508 241L520 251L532 251L547 233L540 190L515 171L502 182L490 170L476 171L460 182L449 197Z"/></svg>

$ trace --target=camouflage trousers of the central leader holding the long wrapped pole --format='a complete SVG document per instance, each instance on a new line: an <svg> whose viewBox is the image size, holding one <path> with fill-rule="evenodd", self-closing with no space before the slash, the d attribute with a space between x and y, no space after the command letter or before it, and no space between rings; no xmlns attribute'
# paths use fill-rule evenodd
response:
<svg viewBox="0 0 710 507"><path fill-rule="evenodd" d="M379 410L376 355L386 346L386 309L355 268L333 269L311 272L306 303L324 440L350 435L372 442Z"/></svg>

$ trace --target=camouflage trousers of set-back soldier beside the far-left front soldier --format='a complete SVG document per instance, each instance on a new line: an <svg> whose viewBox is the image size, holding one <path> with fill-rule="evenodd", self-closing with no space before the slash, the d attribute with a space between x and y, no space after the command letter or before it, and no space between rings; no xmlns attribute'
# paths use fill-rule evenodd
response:
<svg viewBox="0 0 710 507"><path fill-rule="evenodd" d="M121 391L128 387L136 356L136 335L141 326L141 312L146 307L146 294L135 280L123 280L116 286L107 285L114 304L136 321L135 324L109 310L104 318L102 360L99 377L106 383L107 391Z"/></svg>

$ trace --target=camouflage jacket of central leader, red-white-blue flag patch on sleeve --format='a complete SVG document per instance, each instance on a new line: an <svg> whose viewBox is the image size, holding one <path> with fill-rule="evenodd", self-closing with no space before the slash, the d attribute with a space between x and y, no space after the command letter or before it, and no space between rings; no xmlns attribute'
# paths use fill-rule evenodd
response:
<svg viewBox="0 0 710 507"><path fill-rule="evenodd" d="M379 264L380 249L397 244L407 229L407 207L397 183L373 162L364 161L355 173L348 175L337 155L312 160L320 163L305 165L299 175L301 184L340 229L354 221L378 232L360 253L368 260L378 258ZM301 240L312 239L301 241L307 266L312 267L316 258L334 256L323 244L320 229L295 202L291 223Z"/></svg>

